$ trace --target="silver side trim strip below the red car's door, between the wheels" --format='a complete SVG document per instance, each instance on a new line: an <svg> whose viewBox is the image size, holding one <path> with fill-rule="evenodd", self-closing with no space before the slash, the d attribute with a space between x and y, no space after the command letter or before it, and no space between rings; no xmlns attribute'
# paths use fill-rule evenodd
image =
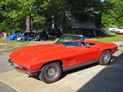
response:
<svg viewBox="0 0 123 92"><path fill-rule="evenodd" d="M68 71L68 70L72 70L72 69L75 69L75 68L79 68L79 67L82 67L82 66L86 66L86 65L89 65L89 64L96 63L96 62L98 62L98 60L99 59L96 59L96 60L89 61L89 62L86 62L86 63L82 63L82 64L78 64L78 65L75 65L75 66L70 66L70 67L67 67L67 68L63 68L63 72Z"/></svg>

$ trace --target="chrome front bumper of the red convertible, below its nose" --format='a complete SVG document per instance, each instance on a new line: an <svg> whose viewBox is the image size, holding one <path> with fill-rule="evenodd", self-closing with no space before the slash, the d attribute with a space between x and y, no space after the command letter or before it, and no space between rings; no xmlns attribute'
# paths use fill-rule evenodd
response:
<svg viewBox="0 0 123 92"><path fill-rule="evenodd" d="M13 61L11 61L11 59L8 59L9 65L12 66L13 68L15 68L18 72L21 73L26 73L28 75L37 75L39 70L28 70L22 67L19 67L16 63L14 63Z"/></svg>

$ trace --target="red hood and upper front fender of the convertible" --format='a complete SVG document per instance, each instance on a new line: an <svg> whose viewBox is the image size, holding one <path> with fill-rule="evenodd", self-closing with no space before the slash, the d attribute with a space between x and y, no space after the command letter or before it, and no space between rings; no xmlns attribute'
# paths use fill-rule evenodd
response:
<svg viewBox="0 0 123 92"><path fill-rule="evenodd" d="M58 44L35 45L18 49L11 53L9 57L21 66L37 64L40 62L61 58L64 52L71 52L71 48Z"/></svg>

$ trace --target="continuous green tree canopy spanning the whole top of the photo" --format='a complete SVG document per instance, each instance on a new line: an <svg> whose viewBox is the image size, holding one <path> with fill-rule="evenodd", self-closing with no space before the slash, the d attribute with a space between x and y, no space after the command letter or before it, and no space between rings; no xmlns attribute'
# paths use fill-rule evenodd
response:
<svg viewBox="0 0 123 92"><path fill-rule="evenodd" d="M82 22L92 20L91 16L98 12L102 14L102 27L123 26L122 6L122 0L0 0L0 30L26 30L33 26L31 21L37 30L53 22L57 29L59 20L65 29L68 11Z"/></svg>

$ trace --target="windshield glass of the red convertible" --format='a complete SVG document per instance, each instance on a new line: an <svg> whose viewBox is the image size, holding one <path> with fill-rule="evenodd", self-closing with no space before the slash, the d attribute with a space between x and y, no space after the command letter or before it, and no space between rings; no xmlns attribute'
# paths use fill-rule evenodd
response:
<svg viewBox="0 0 123 92"><path fill-rule="evenodd" d="M82 37L77 35L63 35L55 44L78 46L81 39Z"/></svg>

